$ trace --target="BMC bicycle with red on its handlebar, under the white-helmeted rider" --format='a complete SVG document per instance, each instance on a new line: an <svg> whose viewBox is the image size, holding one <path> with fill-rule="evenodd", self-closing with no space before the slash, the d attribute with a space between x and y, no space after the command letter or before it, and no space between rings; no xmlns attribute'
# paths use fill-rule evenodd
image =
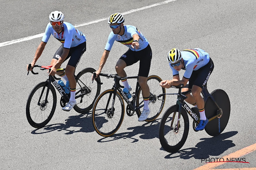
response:
<svg viewBox="0 0 256 170"><path fill-rule="evenodd" d="M41 70L48 69L48 72L50 72L52 66L35 65L33 68L35 67L40 67ZM31 64L29 64L28 70L30 68ZM64 70L65 68L59 68L57 72ZM85 68L77 75L74 75L76 80L76 105L73 108L78 113L83 114L89 112L90 109L93 108L95 99L100 94L100 84L96 84L96 86L89 84L89 82L91 82L91 74L95 71L96 70L93 68ZM38 74L38 72L35 73L33 70L31 72ZM44 127L53 117L57 104L57 96L54 87L61 95L61 107L66 106L67 102L69 102L70 94L67 95L56 80L60 80L60 78L56 78L55 75L48 75L47 80L35 85L29 94L26 105L26 116L29 124L34 128ZM100 78L97 80L100 81Z"/></svg>

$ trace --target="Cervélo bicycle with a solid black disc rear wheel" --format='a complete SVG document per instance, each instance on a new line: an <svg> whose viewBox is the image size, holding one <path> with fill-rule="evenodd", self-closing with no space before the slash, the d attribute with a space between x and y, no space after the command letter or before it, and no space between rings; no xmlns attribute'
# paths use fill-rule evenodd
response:
<svg viewBox="0 0 256 170"><path fill-rule="evenodd" d="M189 130L188 115L193 119L193 130L200 121L199 112L194 112L184 101L191 90L181 92L183 84L179 86L171 86L179 88L179 93L176 94L161 94L177 95L176 105L169 107L163 114L159 125L159 140L163 149L173 153L179 151L184 145ZM204 99L205 115L209 119L204 130L211 136L221 134L227 126L230 115L230 101L227 93L222 89L216 89L211 94L207 87L203 87L201 92ZM197 132L197 131L196 131Z"/></svg>

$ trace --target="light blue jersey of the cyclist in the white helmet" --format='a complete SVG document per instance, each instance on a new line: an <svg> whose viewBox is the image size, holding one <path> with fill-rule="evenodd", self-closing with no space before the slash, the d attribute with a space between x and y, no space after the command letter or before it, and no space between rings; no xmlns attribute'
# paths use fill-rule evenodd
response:
<svg viewBox="0 0 256 170"><path fill-rule="evenodd" d="M85 35L68 22L63 22L61 33L57 33L53 29L52 24L48 23L42 41L47 43L51 34L64 45L64 48L67 49L76 47L86 41Z"/></svg>

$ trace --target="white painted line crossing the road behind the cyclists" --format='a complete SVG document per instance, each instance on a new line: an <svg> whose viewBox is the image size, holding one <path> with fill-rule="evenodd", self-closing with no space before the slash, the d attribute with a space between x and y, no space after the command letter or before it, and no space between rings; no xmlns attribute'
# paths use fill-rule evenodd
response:
<svg viewBox="0 0 256 170"><path fill-rule="evenodd" d="M158 6L158 5L162 5L162 4L166 4L166 3L169 3L169 2L173 2L173 1L176 1L176 0L167 0L167 1L158 2L158 3L155 3L153 5L148 5L148 6L144 6L144 7L135 9L135 10L130 10L130 11L124 12L122 14L123 15L127 15L127 14L130 14L130 13L133 13L133 12L145 10L147 8L152 8L152 7L155 7L155 6ZM99 20L96 20L96 21L91 21L91 22L80 24L80 25L75 25L75 27L82 27L82 26L86 26L86 25L89 25L89 24L101 22L101 21L104 21L104 20L107 20L107 19L108 18L103 18L103 19L99 19ZM20 43L22 41L28 41L28 40L34 39L34 38L39 38L39 37L42 37L43 35L44 35L44 33L41 33L41 34L29 36L29 37L14 39L14 40L11 40L11 41L6 41L6 42L3 42L3 43L0 43L0 47L11 45L11 44L15 44L15 43Z"/></svg>

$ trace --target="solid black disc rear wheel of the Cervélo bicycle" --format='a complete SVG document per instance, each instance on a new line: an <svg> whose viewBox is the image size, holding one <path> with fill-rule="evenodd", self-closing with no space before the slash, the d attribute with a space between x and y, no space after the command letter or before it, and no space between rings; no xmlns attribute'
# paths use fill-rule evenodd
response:
<svg viewBox="0 0 256 170"><path fill-rule="evenodd" d="M211 93L212 97L222 109L222 115L209 121L204 130L211 136L221 134L226 128L230 115L230 101L226 92L222 89L216 89ZM218 113L218 107L209 97L204 106L205 116L209 119Z"/></svg>

